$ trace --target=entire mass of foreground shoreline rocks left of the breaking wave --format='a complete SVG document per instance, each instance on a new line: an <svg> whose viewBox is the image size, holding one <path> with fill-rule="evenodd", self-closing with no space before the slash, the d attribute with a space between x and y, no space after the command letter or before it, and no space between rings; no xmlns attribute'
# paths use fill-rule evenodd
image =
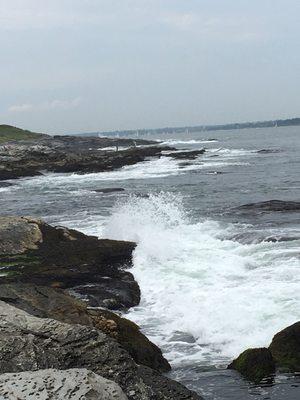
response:
<svg viewBox="0 0 300 400"><path fill-rule="evenodd" d="M38 384L41 377L71 385L76 376L70 391L81 393L90 379L98 388L83 398L200 399L162 375L170 365L160 349L109 310L139 303L127 271L134 247L33 218L0 217L0 395L25 393L35 381L51 392Z"/></svg>

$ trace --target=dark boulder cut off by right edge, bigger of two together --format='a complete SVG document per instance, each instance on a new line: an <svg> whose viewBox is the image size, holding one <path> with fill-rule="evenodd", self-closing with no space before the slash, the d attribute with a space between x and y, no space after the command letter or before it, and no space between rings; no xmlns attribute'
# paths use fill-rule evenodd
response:
<svg viewBox="0 0 300 400"><path fill-rule="evenodd" d="M277 333L269 349L281 370L300 372L300 322Z"/></svg>

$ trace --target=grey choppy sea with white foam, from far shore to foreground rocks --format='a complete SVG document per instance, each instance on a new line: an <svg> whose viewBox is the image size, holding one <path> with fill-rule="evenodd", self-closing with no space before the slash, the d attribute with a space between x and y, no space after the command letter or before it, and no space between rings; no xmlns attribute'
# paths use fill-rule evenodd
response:
<svg viewBox="0 0 300 400"><path fill-rule="evenodd" d="M257 387L225 367L300 320L299 214L235 209L300 200L299 133L273 128L160 137L207 152L192 161L162 157L113 172L22 179L0 189L1 212L136 241L132 271L143 298L128 317L163 349L173 377L205 399L296 400L297 376ZM274 152L257 153L262 149ZM102 187L126 190L93 191Z"/></svg>

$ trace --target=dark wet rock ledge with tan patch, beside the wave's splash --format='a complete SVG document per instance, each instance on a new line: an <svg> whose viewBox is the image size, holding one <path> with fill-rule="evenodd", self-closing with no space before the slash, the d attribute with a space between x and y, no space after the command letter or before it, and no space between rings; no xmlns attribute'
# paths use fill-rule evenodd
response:
<svg viewBox="0 0 300 400"><path fill-rule="evenodd" d="M113 309L139 304L139 286L124 270L134 243L99 240L25 217L0 217L0 239L0 284L72 289L91 305Z"/></svg>

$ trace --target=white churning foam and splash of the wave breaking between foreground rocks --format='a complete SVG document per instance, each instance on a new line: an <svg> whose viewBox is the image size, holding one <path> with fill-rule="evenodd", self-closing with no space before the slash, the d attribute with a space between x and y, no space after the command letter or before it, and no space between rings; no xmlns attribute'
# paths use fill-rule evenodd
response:
<svg viewBox="0 0 300 400"><path fill-rule="evenodd" d="M142 303L128 316L174 365L226 364L300 319L299 241L230 239L250 228L192 222L182 198L166 193L116 205L104 235L137 242Z"/></svg>

